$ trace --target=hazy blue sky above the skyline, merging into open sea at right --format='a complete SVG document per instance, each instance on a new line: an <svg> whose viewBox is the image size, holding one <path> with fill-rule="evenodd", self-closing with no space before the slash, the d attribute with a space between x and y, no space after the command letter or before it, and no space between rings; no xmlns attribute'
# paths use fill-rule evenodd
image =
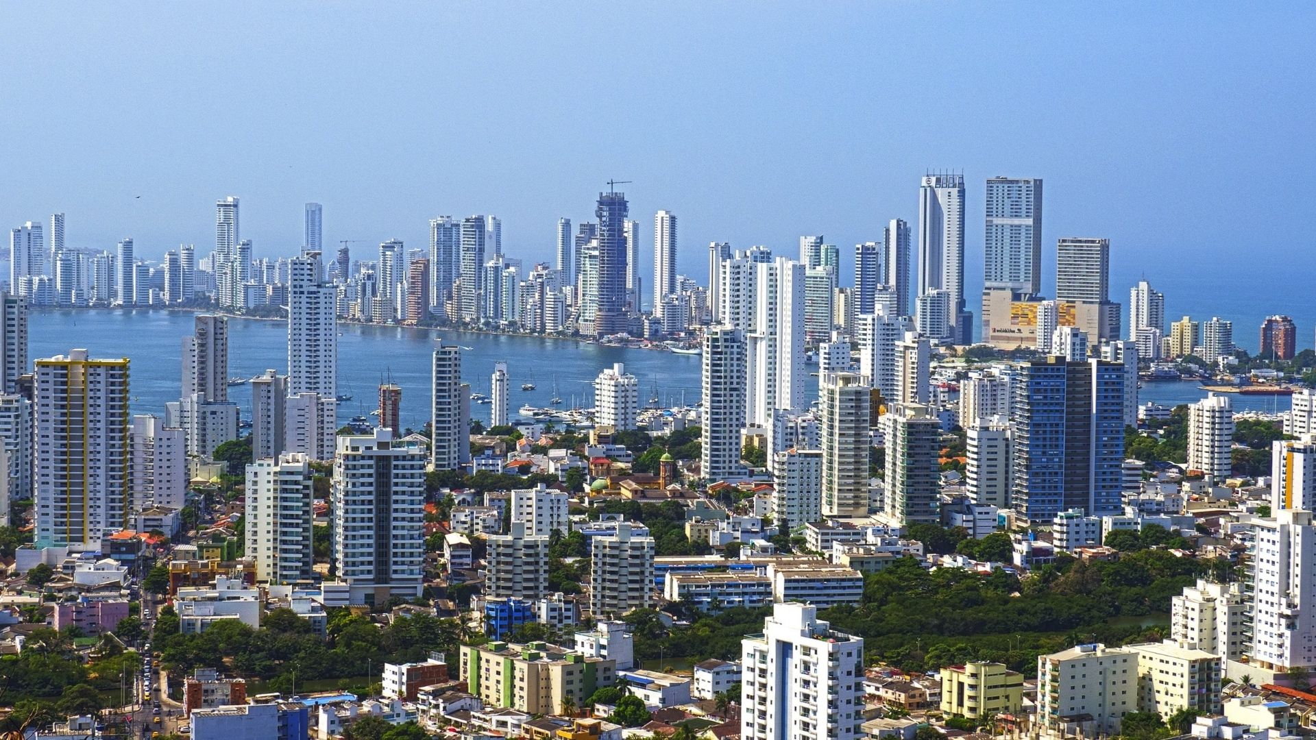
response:
<svg viewBox="0 0 1316 740"><path fill-rule="evenodd" d="M821 233L846 283L957 170L970 308L983 182L1033 176L1048 284L1058 237L1104 236L1116 300L1145 275L1245 346L1266 313L1316 328L1312 4L8 3L0 28L0 224L64 212L71 246L205 254L237 195L257 257L318 201L354 257L495 213L529 265L617 179L646 270L667 209L700 282L709 241Z"/></svg>

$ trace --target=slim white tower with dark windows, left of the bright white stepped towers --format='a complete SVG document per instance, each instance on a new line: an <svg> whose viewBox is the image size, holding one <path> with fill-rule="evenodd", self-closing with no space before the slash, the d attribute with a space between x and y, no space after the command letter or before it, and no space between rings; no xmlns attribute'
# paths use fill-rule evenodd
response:
<svg viewBox="0 0 1316 740"><path fill-rule="evenodd" d="M745 334L732 327L704 332L700 473L707 481L740 479L745 427Z"/></svg>

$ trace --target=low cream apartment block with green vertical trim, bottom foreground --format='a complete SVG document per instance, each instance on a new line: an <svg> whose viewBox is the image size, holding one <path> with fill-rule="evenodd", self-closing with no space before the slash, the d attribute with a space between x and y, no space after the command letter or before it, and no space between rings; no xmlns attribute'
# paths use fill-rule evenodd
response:
<svg viewBox="0 0 1316 740"><path fill-rule="evenodd" d="M584 706L616 682L617 661L574 653L546 643L463 645L461 677L487 707L554 715Z"/></svg>

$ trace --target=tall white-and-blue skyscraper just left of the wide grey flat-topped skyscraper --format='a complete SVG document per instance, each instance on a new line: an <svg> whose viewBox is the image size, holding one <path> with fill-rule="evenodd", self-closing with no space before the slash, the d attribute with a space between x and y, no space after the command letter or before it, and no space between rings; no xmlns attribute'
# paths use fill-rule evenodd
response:
<svg viewBox="0 0 1316 740"><path fill-rule="evenodd" d="M965 176L926 175L919 188L919 295L950 291L957 344L971 344L965 312Z"/></svg>

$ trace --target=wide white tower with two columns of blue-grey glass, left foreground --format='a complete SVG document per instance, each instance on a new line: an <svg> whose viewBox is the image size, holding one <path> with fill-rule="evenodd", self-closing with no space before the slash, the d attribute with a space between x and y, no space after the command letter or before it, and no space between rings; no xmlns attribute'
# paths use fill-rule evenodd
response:
<svg viewBox="0 0 1316 740"><path fill-rule="evenodd" d="M332 490L333 561L351 603L420 596L425 453L388 429L338 437Z"/></svg>

